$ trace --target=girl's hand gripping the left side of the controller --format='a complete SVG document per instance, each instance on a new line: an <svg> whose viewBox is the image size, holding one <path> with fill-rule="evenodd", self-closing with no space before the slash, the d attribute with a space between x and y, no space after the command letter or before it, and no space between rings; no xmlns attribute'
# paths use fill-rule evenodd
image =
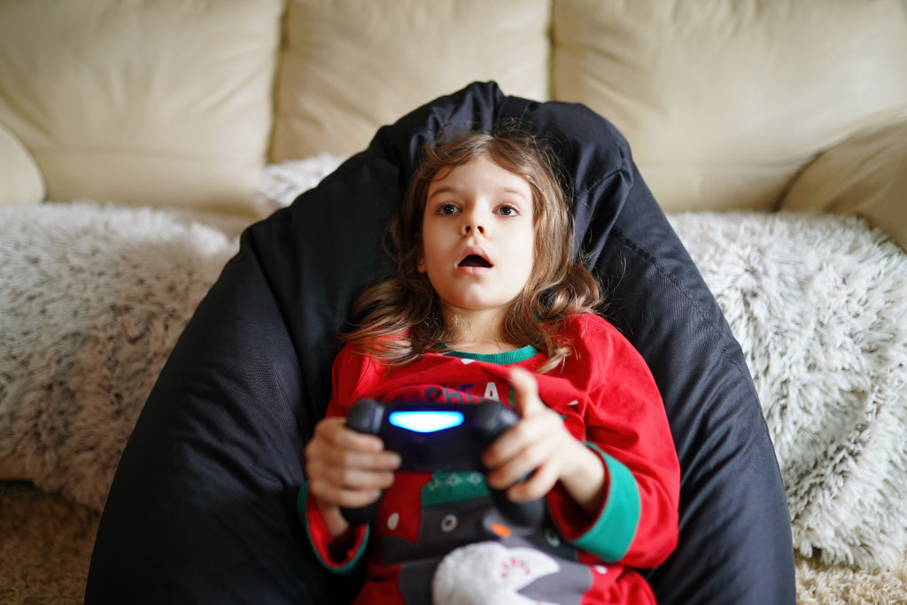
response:
<svg viewBox="0 0 907 605"><path fill-rule="evenodd" d="M308 491L315 497L330 532L337 536L348 523L340 507L359 508L374 503L394 483L400 455L385 451L373 434L346 428L342 418L325 418L306 445Z"/></svg>

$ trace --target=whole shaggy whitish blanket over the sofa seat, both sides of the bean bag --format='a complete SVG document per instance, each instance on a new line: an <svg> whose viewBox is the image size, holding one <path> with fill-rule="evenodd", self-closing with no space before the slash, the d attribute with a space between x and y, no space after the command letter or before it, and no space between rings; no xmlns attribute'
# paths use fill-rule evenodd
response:
<svg viewBox="0 0 907 605"><path fill-rule="evenodd" d="M269 167L262 212L339 161ZM672 222L744 348L796 548L894 565L907 543L907 255L849 218ZM243 226L91 202L0 208L0 462L101 509L161 366Z"/></svg>

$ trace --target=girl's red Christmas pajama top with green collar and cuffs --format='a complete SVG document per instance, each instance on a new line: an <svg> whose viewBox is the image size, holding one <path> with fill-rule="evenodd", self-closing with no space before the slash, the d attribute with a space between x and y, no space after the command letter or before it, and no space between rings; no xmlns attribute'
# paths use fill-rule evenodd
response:
<svg viewBox="0 0 907 605"><path fill-rule="evenodd" d="M541 401L600 455L608 493L594 519L560 484L547 496L546 526L532 535L495 514L480 473L395 473L375 519L347 552L332 538L307 485L298 512L318 558L346 573L365 560L356 603L654 603L631 568L652 568L678 540L679 465L658 388L639 353L604 319L583 314L564 328L573 349L537 374ZM334 363L327 415L364 397L379 401L512 405L512 366L537 370L532 346L496 355L429 353L388 367L347 346ZM474 595L477 601L470 601Z"/></svg>

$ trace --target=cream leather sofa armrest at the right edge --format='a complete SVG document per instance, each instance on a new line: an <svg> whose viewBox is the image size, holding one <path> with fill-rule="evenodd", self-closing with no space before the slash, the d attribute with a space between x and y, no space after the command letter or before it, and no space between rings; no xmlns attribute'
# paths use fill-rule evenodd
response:
<svg viewBox="0 0 907 605"><path fill-rule="evenodd" d="M858 214L907 249L907 108L824 151L781 208Z"/></svg>

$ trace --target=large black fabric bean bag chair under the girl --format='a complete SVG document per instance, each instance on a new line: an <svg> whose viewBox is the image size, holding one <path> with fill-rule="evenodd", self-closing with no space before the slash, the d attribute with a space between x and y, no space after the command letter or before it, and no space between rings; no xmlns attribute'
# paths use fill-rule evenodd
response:
<svg viewBox="0 0 907 605"><path fill-rule="evenodd" d="M295 512L324 414L334 334L390 268L382 228L425 142L518 122L575 181L577 243L606 315L645 357L682 469L661 603L795 602L781 476L744 358L630 157L589 109L474 83L377 132L287 210L250 227L180 337L122 455L85 602L337 603Z"/></svg>

